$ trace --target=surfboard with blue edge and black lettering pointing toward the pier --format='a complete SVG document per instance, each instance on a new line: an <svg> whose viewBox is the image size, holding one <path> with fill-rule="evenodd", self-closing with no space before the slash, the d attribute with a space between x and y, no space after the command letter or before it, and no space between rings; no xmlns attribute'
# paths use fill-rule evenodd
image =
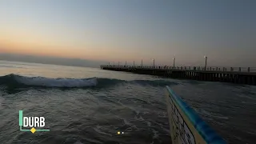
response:
<svg viewBox="0 0 256 144"><path fill-rule="evenodd" d="M170 137L173 144L226 144L199 115L166 86Z"/></svg>

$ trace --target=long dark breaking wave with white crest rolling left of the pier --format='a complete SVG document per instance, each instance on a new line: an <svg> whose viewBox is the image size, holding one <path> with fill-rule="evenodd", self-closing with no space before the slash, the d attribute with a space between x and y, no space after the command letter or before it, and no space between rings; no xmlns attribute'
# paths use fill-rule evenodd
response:
<svg viewBox="0 0 256 144"><path fill-rule="evenodd" d="M0 85L7 86L45 86L45 87L88 87L88 86L113 86L118 83L133 83L148 86L170 86L178 84L167 80L134 80L125 81L114 78L45 78L26 77L17 74L8 74L0 77Z"/></svg>

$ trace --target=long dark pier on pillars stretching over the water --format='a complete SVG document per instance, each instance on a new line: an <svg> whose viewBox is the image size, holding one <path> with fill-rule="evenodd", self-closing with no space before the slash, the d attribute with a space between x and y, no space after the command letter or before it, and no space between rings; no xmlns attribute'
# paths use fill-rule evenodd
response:
<svg viewBox="0 0 256 144"><path fill-rule="evenodd" d="M102 70L150 74L166 78L256 85L256 68L202 66L127 66L101 65Z"/></svg>

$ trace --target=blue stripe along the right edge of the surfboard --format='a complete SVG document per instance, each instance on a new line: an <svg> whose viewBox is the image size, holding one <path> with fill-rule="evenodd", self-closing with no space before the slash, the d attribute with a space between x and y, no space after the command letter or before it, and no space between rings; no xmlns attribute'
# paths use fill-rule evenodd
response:
<svg viewBox="0 0 256 144"><path fill-rule="evenodd" d="M207 143L226 143L223 138L221 138L210 126L208 126L206 122L204 122L202 118L200 118L198 114L182 100L182 98L174 93L174 90L171 90L169 86L166 86L166 89L170 93L169 96L178 104L179 108L184 114L186 114L190 122L194 125L195 129L198 130L198 133L201 134L202 138L204 138Z"/></svg>

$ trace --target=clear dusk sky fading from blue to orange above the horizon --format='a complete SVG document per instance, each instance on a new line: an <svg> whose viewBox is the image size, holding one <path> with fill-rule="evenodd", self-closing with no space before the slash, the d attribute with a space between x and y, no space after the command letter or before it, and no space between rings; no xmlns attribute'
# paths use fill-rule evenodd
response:
<svg viewBox="0 0 256 144"><path fill-rule="evenodd" d="M256 67L254 0L2 0L0 53Z"/></svg>

